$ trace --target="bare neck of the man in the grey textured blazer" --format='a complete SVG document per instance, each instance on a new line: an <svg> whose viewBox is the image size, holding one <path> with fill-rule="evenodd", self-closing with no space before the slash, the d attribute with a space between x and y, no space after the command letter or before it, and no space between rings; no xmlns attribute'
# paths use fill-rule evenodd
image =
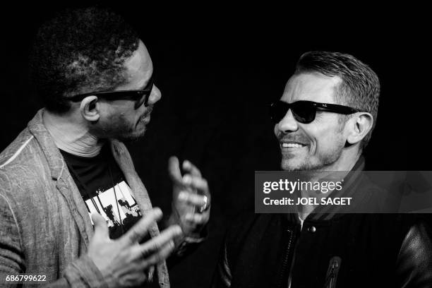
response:
<svg viewBox="0 0 432 288"><path fill-rule="evenodd" d="M104 141L90 134L85 122L73 113L59 115L45 109L43 122L57 148L81 157L100 153Z"/></svg>

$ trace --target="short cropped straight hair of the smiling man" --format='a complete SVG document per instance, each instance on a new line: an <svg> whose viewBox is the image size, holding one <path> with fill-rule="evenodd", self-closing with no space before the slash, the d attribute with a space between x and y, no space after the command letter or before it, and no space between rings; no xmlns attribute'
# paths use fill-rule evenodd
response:
<svg viewBox="0 0 432 288"><path fill-rule="evenodd" d="M361 149L371 139L378 116L380 81L378 76L366 64L354 56L338 52L306 52L296 64L296 74L319 72L325 76L339 76L342 83L335 94L335 101L349 107L368 112L373 116L371 131L361 141ZM344 115L341 117L344 118Z"/></svg>

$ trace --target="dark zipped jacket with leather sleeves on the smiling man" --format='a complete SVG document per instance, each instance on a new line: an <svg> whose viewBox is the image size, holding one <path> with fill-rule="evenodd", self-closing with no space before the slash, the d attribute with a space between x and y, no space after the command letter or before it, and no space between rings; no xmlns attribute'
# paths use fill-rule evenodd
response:
<svg viewBox="0 0 432 288"><path fill-rule="evenodd" d="M432 287L431 234L416 215L314 213L300 227L296 214L240 217L213 287L288 287L290 274L292 288Z"/></svg>

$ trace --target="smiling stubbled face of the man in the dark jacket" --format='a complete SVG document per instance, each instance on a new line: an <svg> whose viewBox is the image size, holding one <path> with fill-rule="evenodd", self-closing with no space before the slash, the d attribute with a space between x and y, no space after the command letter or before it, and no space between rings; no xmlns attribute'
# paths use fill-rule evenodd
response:
<svg viewBox="0 0 432 288"><path fill-rule="evenodd" d="M378 85L378 78L371 78L371 80ZM345 113L356 112L356 109L337 106L335 103L337 99L334 95L338 93L340 85L342 79L339 76L325 76L319 72L299 73L289 79L280 102L276 102L272 107L273 111L283 113L289 109L289 103L294 103L292 109L284 114L282 119L274 119L280 120L275 126L275 135L281 144L282 169L287 171L323 169L349 171L352 169L359 156L359 149L352 144L359 142L359 139L371 131L373 116L367 112L358 112L355 118L347 119L347 116L339 114L337 108L340 107L341 111L347 109ZM373 92L378 97L379 86L375 89L376 91ZM325 105L318 103L325 103ZM355 104L367 105L367 103ZM374 104L375 107L366 107L364 110L376 114L378 99ZM336 107L333 113L319 112L329 110L329 107ZM307 112L315 109L318 109L318 113L313 120L306 121L301 118L302 115L296 114L296 111ZM309 121L311 123L307 123ZM351 135L353 128L356 131ZM351 147L344 149L346 144Z"/></svg>

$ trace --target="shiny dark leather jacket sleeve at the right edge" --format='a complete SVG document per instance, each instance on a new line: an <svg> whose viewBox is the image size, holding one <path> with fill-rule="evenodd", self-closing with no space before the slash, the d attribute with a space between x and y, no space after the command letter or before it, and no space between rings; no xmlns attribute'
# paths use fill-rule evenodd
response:
<svg viewBox="0 0 432 288"><path fill-rule="evenodd" d="M398 286L428 288L432 283L431 230L424 222L412 225L397 257Z"/></svg>

